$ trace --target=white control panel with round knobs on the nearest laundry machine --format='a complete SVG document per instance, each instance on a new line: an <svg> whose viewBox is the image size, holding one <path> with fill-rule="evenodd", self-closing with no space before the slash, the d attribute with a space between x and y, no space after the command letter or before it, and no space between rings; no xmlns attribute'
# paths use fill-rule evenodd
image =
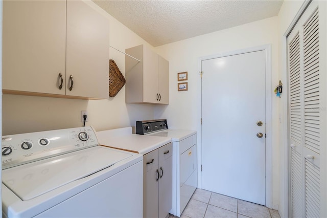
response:
<svg viewBox="0 0 327 218"><path fill-rule="evenodd" d="M3 136L2 167L6 169L97 145L91 126Z"/></svg>

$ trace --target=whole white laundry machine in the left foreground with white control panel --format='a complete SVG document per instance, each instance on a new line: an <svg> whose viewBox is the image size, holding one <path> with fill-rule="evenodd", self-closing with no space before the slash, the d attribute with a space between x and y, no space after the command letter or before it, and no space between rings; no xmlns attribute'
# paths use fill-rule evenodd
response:
<svg viewBox="0 0 327 218"><path fill-rule="evenodd" d="M2 155L4 217L143 215L143 156L99 146L92 127L3 136Z"/></svg>

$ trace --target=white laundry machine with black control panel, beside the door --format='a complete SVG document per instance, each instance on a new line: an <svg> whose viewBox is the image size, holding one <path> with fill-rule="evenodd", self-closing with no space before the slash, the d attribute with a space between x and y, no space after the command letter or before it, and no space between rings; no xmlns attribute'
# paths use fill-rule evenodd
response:
<svg viewBox="0 0 327 218"><path fill-rule="evenodd" d="M167 120L160 119L137 121L136 134L172 139L173 207L170 213L180 216L198 186L196 131L168 129Z"/></svg>

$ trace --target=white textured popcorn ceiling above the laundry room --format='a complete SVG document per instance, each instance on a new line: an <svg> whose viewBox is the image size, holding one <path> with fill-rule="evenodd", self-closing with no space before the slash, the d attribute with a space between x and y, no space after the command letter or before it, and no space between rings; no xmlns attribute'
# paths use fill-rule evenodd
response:
<svg viewBox="0 0 327 218"><path fill-rule="evenodd" d="M283 1L94 2L152 46L276 16Z"/></svg>

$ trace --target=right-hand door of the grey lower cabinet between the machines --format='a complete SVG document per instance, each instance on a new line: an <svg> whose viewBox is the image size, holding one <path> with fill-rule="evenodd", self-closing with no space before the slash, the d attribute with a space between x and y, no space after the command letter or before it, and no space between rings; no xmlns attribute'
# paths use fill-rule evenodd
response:
<svg viewBox="0 0 327 218"><path fill-rule="evenodd" d="M173 146L169 143L159 148L159 217L166 217L173 201Z"/></svg>

